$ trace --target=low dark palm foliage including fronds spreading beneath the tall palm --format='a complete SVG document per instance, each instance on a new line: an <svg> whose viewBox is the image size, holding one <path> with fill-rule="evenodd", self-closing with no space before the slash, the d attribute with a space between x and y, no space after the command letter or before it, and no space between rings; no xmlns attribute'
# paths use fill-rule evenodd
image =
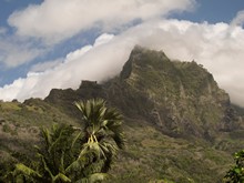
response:
<svg viewBox="0 0 244 183"><path fill-rule="evenodd" d="M35 146L38 161L29 166L19 163L12 173L14 182L95 182L106 175L88 171L87 156L79 156L81 133L64 124L54 124L49 131L42 129L41 145Z"/></svg>

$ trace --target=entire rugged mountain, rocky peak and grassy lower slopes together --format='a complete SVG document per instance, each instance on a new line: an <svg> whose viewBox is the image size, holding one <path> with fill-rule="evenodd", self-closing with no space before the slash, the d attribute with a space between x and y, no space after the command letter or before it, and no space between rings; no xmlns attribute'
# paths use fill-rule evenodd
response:
<svg viewBox="0 0 244 183"><path fill-rule="evenodd" d="M108 182L220 182L232 153L243 149L243 109L231 104L206 69L136 45L120 75L103 83L82 81L44 100L0 102L0 156L14 162L31 154L41 125L80 125L73 102L91 98L124 115L128 148Z"/></svg>

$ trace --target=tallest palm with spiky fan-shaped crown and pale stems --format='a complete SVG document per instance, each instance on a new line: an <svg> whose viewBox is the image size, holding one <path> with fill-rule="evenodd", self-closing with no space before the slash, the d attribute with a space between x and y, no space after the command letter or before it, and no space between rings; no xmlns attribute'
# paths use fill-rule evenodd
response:
<svg viewBox="0 0 244 183"><path fill-rule="evenodd" d="M74 102L82 114L83 144L80 156L93 154L92 161L102 160L102 172L108 172L118 149L124 148L122 115L116 109L106 108L103 99Z"/></svg>

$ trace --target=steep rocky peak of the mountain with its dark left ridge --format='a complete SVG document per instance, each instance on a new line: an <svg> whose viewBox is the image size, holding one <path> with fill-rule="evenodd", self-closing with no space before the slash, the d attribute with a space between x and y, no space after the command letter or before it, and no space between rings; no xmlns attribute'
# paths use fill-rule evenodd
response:
<svg viewBox="0 0 244 183"><path fill-rule="evenodd" d="M58 98L53 92L47 100L54 103L60 98L105 98L124 115L146 119L173 136L213 140L240 122L227 93L202 65L171 61L163 52L141 47L134 48L120 77L103 84L84 81L73 93L58 92Z"/></svg>

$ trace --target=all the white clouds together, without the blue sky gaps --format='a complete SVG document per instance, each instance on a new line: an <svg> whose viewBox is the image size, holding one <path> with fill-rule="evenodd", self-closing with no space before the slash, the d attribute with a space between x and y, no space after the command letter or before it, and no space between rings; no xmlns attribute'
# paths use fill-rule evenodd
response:
<svg viewBox="0 0 244 183"><path fill-rule="evenodd" d="M191 10L194 2L45 0L40 6L32 4L17 11L9 18L10 26L17 29L16 37L31 37L41 40L47 47L94 27L99 27L101 32L106 32L130 24L134 20L140 20L141 23L132 23L118 34L102 33L93 44L73 50L63 59L58 58L33 65L26 78L0 88L0 99L23 101L31 96L44 98L53 88L77 89L81 80L104 81L119 74L133 47L140 44L163 50L174 60L195 60L203 64L213 73L218 85L230 93L232 102L244 106L244 13L238 12L230 24L166 19L172 11ZM4 34L6 31L2 29L1 32ZM8 41L3 41L0 51L6 48L6 52L11 53L14 47L10 44L8 49L7 43ZM14 62L9 54L6 55L6 60L9 58L9 65L30 61L42 52L32 47L32 42L24 42L23 45L22 57L17 57L21 55L19 50L13 54L18 61Z"/></svg>

